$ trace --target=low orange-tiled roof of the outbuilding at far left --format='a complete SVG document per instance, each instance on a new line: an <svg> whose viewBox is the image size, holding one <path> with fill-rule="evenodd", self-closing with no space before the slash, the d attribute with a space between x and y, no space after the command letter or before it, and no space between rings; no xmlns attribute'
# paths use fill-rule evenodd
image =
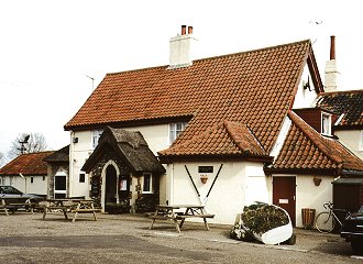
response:
<svg viewBox="0 0 363 264"><path fill-rule="evenodd" d="M53 151L22 154L0 168L0 176L47 175L47 164L43 160Z"/></svg>

